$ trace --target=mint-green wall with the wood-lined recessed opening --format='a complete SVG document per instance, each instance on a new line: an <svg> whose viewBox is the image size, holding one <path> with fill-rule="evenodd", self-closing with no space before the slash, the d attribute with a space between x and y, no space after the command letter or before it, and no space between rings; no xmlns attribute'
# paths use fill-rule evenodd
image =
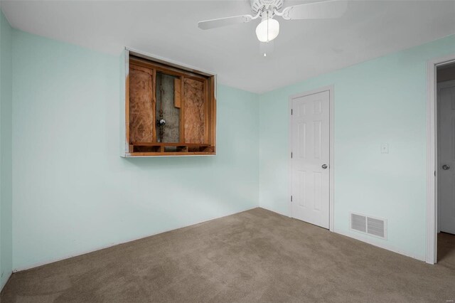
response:
<svg viewBox="0 0 455 303"><path fill-rule="evenodd" d="M119 58L14 31L14 269L258 206L257 95L219 85L216 156L119 157Z"/></svg>

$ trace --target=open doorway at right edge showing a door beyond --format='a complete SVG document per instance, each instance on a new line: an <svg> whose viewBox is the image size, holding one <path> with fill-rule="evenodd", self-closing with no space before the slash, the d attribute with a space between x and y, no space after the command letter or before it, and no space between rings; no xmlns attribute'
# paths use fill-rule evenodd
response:
<svg viewBox="0 0 455 303"><path fill-rule="evenodd" d="M455 63L437 66L437 254L455 265Z"/></svg>

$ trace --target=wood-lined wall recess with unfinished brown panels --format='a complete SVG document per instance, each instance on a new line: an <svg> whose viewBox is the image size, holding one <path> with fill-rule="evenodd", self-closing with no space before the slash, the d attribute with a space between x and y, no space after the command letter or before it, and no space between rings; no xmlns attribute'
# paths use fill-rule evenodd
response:
<svg viewBox="0 0 455 303"><path fill-rule="evenodd" d="M125 50L121 156L216 154L216 77Z"/></svg>

